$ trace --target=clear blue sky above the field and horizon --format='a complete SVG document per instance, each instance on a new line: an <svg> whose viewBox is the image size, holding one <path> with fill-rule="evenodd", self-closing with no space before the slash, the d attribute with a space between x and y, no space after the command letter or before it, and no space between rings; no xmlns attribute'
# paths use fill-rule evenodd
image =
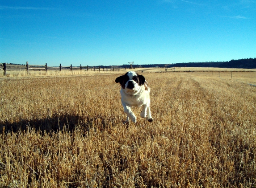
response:
<svg viewBox="0 0 256 188"><path fill-rule="evenodd" d="M256 0L1 0L0 62L169 64L256 57Z"/></svg>

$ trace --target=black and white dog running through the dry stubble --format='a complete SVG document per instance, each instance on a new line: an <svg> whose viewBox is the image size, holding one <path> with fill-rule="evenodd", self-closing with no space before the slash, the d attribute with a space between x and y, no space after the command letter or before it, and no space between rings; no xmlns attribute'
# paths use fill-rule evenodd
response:
<svg viewBox="0 0 256 188"><path fill-rule="evenodd" d="M126 74L119 76L115 80L121 85L121 102L124 107L124 112L127 114L125 123L129 123L129 119L133 123L137 122L137 118L131 110L132 106L142 106L140 116L146 118L149 122L153 122L150 111L150 88L143 75L136 74L134 71L129 71Z"/></svg>

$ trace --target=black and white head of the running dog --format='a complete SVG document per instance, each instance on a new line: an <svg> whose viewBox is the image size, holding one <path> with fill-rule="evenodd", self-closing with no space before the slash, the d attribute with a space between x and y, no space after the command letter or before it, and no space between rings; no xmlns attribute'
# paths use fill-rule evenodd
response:
<svg viewBox="0 0 256 188"><path fill-rule="evenodd" d="M129 71L116 78L116 83L120 83L124 90L138 91L139 87L144 85L145 78L143 75L136 74L134 71Z"/></svg>

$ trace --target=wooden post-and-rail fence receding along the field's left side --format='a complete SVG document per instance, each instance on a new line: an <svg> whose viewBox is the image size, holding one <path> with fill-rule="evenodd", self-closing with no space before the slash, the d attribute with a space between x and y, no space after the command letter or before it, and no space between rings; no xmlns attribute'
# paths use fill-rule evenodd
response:
<svg viewBox="0 0 256 188"><path fill-rule="evenodd" d="M1 65L3 67L4 70L4 76L6 76L7 74L7 70L26 70L27 73L29 73L29 70L43 70L46 71L47 70L84 70L84 71L88 71L88 70L92 70L92 71L120 71L121 69L126 69L126 68L120 68L118 66L82 66L80 64L80 66L62 66L61 64L59 64L59 66L47 66L47 63L45 65L29 65L29 62L26 62L26 65L13 65L13 64L6 64L3 63Z"/></svg>

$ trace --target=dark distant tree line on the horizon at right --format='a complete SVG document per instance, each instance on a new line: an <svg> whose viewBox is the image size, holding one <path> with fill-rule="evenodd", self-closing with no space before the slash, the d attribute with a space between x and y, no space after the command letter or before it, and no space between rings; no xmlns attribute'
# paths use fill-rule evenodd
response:
<svg viewBox="0 0 256 188"><path fill-rule="evenodd" d="M130 66L130 65L129 65ZM129 68L128 65L120 67ZM231 61L218 61L218 62L188 62L188 63L175 63L175 64L151 64L151 65L133 65L134 68L144 67L216 67L216 68L238 68L238 69L256 69L256 58L238 59Z"/></svg>

